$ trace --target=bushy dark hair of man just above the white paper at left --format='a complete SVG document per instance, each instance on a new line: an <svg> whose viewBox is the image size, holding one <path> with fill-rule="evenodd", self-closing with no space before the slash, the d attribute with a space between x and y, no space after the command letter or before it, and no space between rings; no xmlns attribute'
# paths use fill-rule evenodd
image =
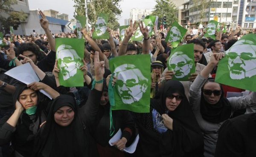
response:
<svg viewBox="0 0 256 157"><path fill-rule="evenodd" d="M34 43L21 43L17 47L17 52L18 54L23 54L24 51L31 51L33 54L36 55L38 61L44 58L44 54L40 52L39 47Z"/></svg>

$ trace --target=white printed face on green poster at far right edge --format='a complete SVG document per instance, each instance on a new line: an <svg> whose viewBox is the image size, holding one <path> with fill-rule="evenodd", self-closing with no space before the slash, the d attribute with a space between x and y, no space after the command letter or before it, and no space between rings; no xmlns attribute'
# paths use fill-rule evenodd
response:
<svg viewBox="0 0 256 157"><path fill-rule="evenodd" d="M241 80L256 75L256 46L250 40L239 40L227 52L230 78Z"/></svg>

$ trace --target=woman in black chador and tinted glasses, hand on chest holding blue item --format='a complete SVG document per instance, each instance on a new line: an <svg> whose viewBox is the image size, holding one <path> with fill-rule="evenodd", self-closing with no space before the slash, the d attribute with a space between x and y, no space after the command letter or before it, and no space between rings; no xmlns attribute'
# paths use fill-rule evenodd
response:
<svg viewBox="0 0 256 157"><path fill-rule="evenodd" d="M150 113L136 115L140 135L136 155L201 157L203 137L183 85L169 80L159 95L157 99L151 99Z"/></svg>

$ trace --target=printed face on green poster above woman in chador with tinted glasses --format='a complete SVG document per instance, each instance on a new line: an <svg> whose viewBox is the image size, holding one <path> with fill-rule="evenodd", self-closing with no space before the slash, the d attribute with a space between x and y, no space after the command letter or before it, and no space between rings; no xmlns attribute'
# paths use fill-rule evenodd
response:
<svg viewBox="0 0 256 157"><path fill-rule="evenodd" d="M169 65L175 72L176 78L186 77L192 69L193 60L183 52L175 52L169 60Z"/></svg>

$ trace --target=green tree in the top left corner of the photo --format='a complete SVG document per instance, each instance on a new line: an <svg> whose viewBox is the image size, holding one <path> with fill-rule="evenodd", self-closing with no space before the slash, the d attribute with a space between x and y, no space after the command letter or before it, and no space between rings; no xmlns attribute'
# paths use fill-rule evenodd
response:
<svg viewBox="0 0 256 157"><path fill-rule="evenodd" d="M10 26L17 30L22 21L25 21L27 14L24 12L13 11L12 5L17 4L17 0L0 0L0 13L5 12L9 17L3 17L0 14L0 31L9 33Z"/></svg>

